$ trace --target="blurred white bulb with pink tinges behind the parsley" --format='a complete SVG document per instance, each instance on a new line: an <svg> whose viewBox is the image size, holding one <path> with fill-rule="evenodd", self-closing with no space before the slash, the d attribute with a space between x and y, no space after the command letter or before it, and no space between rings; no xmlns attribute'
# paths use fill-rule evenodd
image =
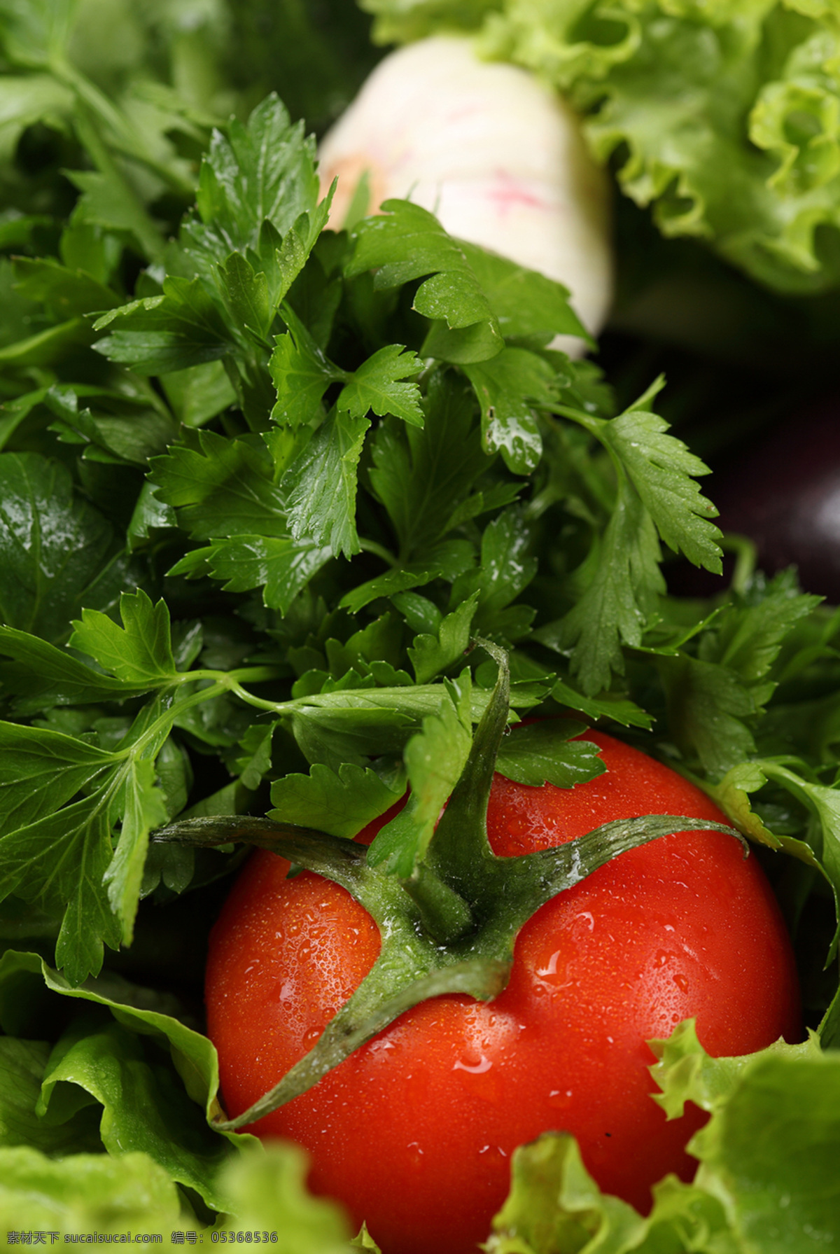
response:
<svg viewBox="0 0 840 1254"><path fill-rule="evenodd" d="M609 183L574 112L527 70L479 60L460 36L409 44L380 61L318 157L323 189L339 177L335 224L367 174L370 209L390 197L431 209L450 234L558 280L601 331L613 292Z"/></svg>

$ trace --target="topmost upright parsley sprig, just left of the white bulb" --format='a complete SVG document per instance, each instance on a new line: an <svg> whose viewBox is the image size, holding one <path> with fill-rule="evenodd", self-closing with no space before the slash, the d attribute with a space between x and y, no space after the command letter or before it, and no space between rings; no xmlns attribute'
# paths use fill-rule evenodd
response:
<svg viewBox="0 0 840 1254"><path fill-rule="evenodd" d="M214 132L196 209L167 258L162 295L110 310L97 350L140 374L226 359L252 426L270 403L267 356L276 315L326 224L313 142L276 97L247 123Z"/></svg>

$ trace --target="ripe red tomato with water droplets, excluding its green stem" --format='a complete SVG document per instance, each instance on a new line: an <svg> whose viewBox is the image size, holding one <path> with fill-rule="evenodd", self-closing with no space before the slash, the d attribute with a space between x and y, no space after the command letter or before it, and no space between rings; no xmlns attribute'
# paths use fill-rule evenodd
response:
<svg viewBox="0 0 840 1254"><path fill-rule="evenodd" d="M668 767L588 739L607 771L587 784L496 775L496 854L639 814L721 821ZM286 880L286 869L256 853L211 939L208 1031L232 1116L312 1046L379 953L375 924L344 889L310 873ZM622 854L533 915L495 1001L425 1002L252 1131L306 1146L312 1189L366 1220L384 1254L474 1251L508 1193L513 1150L553 1129L574 1132L602 1189L647 1210L656 1180L693 1175L685 1145L705 1116L666 1120L644 1042L691 1016L712 1055L799 1038L779 908L757 860L722 833Z"/></svg>

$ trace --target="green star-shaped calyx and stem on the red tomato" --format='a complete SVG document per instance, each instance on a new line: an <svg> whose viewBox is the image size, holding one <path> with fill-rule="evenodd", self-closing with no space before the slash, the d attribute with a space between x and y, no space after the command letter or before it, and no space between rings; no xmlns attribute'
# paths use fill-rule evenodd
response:
<svg viewBox="0 0 840 1254"><path fill-rule="evenodd" d="M461 775L425 849L409 874L370 848L293 824L249 816L191 819L159 829L155 840L197 845L246 841L345 888L374 918L381 949L356 992L312 1050L243 1114L218 1120L246 1127L306 1092L404 1011L430 997L461 993L491 1001L508 983L517 935L558 893L618 854L687 830L733 829L685 815L646 815L607 823L537 853L500 858L488 839L486 810L496 754L505 734L510 680L507 655L481 642L499 675L473 736Z"/></svg>

